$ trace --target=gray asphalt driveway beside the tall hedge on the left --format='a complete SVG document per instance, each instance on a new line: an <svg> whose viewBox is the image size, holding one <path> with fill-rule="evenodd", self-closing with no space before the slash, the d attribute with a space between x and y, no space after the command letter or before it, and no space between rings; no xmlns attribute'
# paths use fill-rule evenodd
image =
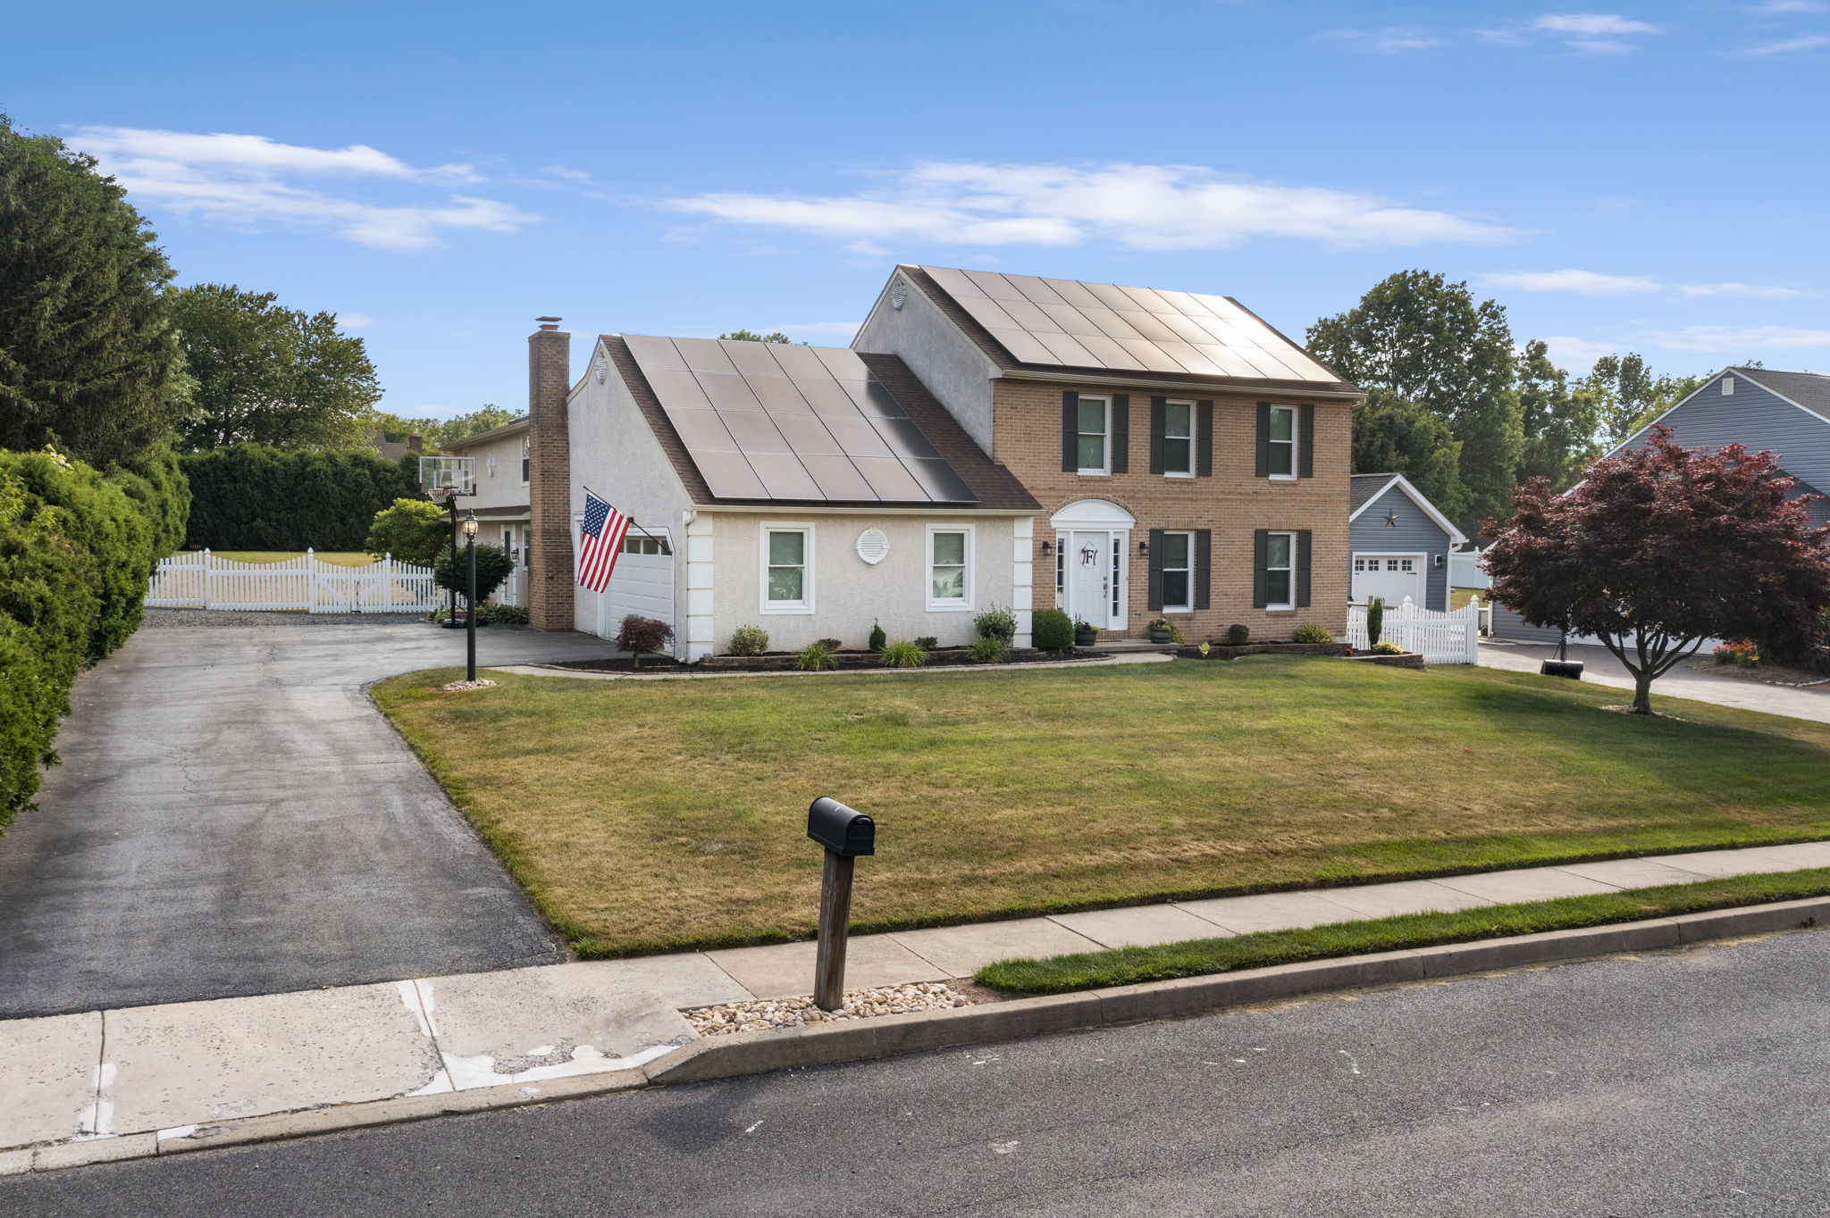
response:
<svg viewBox="0 0 1830 1218"><path fill-rule="evenodd" d="M364 693L463 664L461 631L148 618L77 682L64 764L0 838L0 1019L562 958ZM483 664L608 647L478 640Z"/></svg>

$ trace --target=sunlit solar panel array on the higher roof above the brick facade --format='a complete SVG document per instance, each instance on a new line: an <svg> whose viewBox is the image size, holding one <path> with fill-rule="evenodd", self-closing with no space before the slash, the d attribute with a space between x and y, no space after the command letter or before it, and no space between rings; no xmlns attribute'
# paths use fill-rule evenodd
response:
<svg viewBox="0 0 1830 1218"><path fill-rule="evenodd" d="M922 267L1019 364L1336 380L1226 296Z"/></svg>

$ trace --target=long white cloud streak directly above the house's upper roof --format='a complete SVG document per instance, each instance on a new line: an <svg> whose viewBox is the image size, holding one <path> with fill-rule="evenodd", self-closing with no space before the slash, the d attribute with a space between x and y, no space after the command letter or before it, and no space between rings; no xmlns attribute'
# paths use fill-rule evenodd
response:
<svg viewBox="0 0 1830 1218"><path fill-rule="evenodd" d="M728 223L847 241L1221 249L1277 236L1332 247L1508 241L1502 225L1323 187L1285 187L1193 165L979 165L937 161L851 196L741 192L668 199Z"/></svg>

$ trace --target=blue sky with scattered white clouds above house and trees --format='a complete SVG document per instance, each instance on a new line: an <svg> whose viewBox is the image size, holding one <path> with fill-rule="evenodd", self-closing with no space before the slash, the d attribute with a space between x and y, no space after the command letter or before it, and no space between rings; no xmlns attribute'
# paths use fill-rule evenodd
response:
<svg viewBox="0 0 1830 1218"><path fill-rule="evenodd" d="M1407 267L1585 369L1830 366L1830 0L35 5L0 110L397 413L575 335L844 344L897 262L1241 298ZM22 53L24 51L24 53Z"/></svg>

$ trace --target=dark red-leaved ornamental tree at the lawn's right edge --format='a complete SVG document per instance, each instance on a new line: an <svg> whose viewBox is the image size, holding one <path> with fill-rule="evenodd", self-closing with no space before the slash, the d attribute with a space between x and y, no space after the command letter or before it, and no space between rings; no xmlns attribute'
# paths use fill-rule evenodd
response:
<svg viewBox="0 0 1830 1218"><path fill-rule="evenodd" d="M1652 428L1561 496L1543 477L1519 488L1512 521L1486 527L1493 600L1599 638L1651 715L1652 682L1704 640L1803 636L1830 607L1830 527L1795 486L1770 452Z"/></svg>

